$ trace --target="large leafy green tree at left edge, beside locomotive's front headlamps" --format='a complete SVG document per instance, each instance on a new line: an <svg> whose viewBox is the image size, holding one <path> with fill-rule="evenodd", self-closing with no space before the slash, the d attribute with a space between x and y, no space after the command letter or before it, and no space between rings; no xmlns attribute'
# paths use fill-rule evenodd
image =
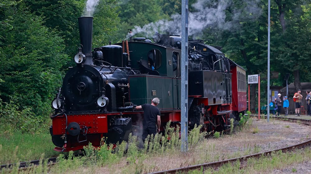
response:
<svg viewBox="0 0 311 174"><path fill-rule="evenodd" d="M1 99L10 103L12 98L20 109L31 108L38 116L51 111L53 90L61 84L59 67L67 61L63 39L43 26L42 17L30 12L19 1L4 12L9 17L2 30L0 44Z"/></svg>

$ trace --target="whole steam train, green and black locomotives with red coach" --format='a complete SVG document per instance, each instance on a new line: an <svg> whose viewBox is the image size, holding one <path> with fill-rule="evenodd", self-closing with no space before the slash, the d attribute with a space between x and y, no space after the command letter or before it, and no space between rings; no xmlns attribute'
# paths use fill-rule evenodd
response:
<svg viewBox="0 0 311 174"><path fill-rule="evenodd" d="M92 48L92 17L78 18L80 48L63 85L52 101L50 134L56 151L80 150L139 135L143 111L136 105L158 97L163 131L170 120L180 124L181 37L155 34L154 42L138 37ZM202 131L230 128L246 110L245 70L220 48L189 41L188 126Z"/></svg>

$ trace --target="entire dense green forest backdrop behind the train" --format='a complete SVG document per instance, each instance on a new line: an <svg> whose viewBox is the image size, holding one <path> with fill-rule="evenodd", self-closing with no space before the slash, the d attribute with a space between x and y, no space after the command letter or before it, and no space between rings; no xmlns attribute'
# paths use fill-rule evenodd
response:
<svg viewBox="0 0 311 174"><path fill-rule="evenodd" d="M265 85L267 5L263 0L189 0L190 39L223 47L248 74L261 74ZM85 6L86 0L0 2L0 124L35 131L49 117L54 91L77 52L77 17ZM121 41L128 29L150 24L159 32L172 25L178 30L180 14L180 0L100 0L94 11L93 47ZM279 73L270 85L285 86L284 76L290 73L289 82L300 88L300 81L311 79L311 4L271 1L270 21L270 70ZM267 91L261 92L266 103ZM256 88L251 94L256 96Z"/></svg>

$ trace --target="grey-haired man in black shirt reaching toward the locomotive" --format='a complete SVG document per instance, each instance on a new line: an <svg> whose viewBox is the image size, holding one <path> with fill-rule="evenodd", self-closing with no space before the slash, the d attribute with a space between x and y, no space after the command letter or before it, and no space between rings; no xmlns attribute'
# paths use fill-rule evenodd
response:
<svg viewBox="0 0 311 174"><path fill-rule="evenodd" d="M144 121L142 124L143 133L142 140L145 142L147 135L156 135L157 132L160 132L161 126L161 117L160 117L160 109L156 106L160 103L159 98L153 98L151 104L143 104L140 106L136 106L136 109L144 110ZM158 129L156 127L158 126Z"/></svg>

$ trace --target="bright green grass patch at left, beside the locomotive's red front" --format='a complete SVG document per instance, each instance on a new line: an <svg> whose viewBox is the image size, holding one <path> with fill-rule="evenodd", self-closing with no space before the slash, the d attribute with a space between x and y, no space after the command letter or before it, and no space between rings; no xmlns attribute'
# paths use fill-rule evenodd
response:
<svg viewBox="0 0 311 174"><path fill-rule="evenodd" d="M41 158L58 156L54 151L55 145L49 133L49 126L41 126L35 132L23 132L21 130L2 127L0 131L0 164L14 163L18 161L30 161ZM16 152L16 153L15 153ZM14 155L13 155L14 154Z"/></svg>

